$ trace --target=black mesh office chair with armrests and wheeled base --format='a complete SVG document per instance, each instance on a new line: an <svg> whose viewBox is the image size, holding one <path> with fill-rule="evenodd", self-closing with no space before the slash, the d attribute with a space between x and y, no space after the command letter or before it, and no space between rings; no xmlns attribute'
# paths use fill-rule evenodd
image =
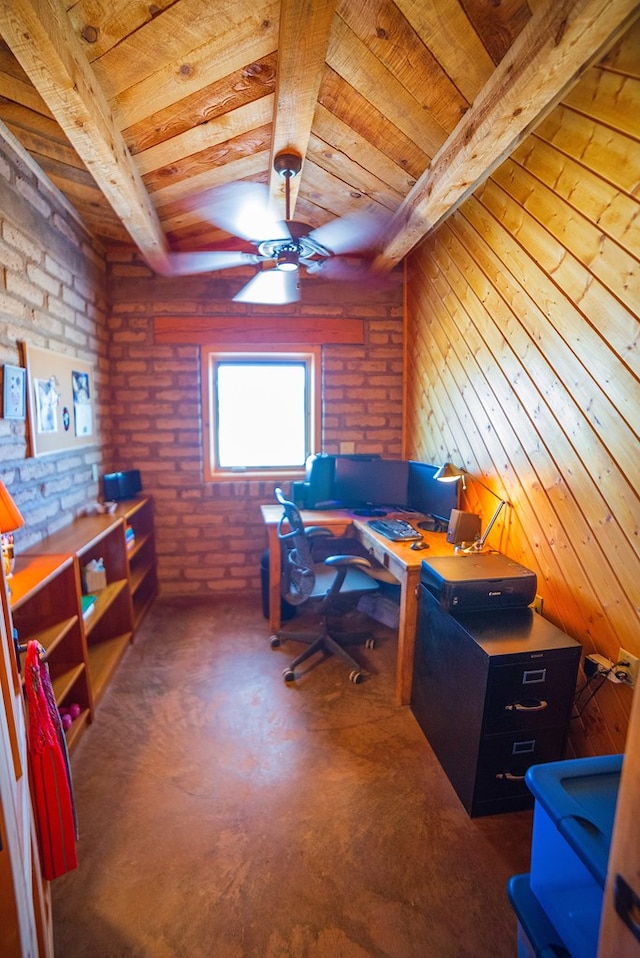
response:
<svg viewBox="0 0 640 958"><path fill-rule="evenodd" d="M335 627L336 620L345 596L353 606L360 596L378 590L377 579L389 581L389 573L375 559L362 554L365 550L356 539L334 537L330 529L319 526L305 529L298 507L284 497L282 489L276 488L275 496L284 510L278 523L282 596L296 606L312 599L321 600L320 625L315 632L281 630L271 636L272 649L278 648L285 639L308 645L284 669L285 682L293 682L298 665L316 652L323 652L344 659L351 666L349 679L359 685L364 674L344 646L366 639L365 646L373 648L373 635L371 631L340 633ZM347 553L347 549L353 554Z"/></svg>

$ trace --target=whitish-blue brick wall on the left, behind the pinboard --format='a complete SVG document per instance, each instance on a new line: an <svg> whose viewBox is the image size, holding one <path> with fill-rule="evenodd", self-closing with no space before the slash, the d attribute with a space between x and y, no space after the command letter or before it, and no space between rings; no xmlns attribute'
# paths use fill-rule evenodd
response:
<svg viewBox="0 0 640 958"><path fill-rule="evenodd" d="M19 342L93 366L96 444L29 456L27 421L0 419L0 475L26 524L16 552L95 500L108 385L104 254L20 151L0 141L0 363L23 365Z"/></svg>

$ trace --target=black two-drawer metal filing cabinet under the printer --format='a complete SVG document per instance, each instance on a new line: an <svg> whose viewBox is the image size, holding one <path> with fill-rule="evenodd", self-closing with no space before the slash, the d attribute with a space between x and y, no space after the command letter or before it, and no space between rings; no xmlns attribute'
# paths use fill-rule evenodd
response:
<svg viewBox="0 0 640 958"><path fill-rule="evenodd" d="M533 804L559 761L581 646L529 608L452 615L419 586L411 709L469 815Z"/></svg>

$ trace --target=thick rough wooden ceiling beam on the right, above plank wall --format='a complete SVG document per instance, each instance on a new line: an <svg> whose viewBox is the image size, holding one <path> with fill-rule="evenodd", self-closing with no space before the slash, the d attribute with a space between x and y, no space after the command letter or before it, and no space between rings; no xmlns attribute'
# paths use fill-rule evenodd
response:
<svg viewBox="0 0 640 958"><path fill-rule="evenodd" d="M545 0L393 216L392 269L458 208L640 15L637 0Z"/></svg>

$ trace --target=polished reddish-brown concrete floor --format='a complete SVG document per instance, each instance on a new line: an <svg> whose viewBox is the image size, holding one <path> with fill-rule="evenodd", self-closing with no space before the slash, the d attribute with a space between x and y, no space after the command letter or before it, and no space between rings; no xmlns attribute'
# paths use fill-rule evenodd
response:
<svg viewBox="0 0 640 958"><path fill-rule="evenodd" d="M468 818L377 632L290 686L258 597L156 603L73 756L58 958L514 958L532 814Z"/></svg>

